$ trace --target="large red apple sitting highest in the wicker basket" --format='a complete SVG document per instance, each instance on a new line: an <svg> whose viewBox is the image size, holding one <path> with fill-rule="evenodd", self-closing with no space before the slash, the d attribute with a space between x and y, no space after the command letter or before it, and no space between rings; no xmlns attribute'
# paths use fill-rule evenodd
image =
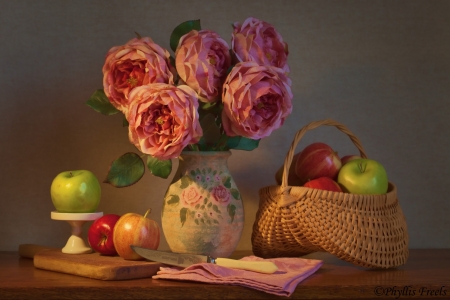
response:
<svg viewBox="0 0 450 300"><path fill-rule="evenodd" d="M341 168L341 159L327 144L313 143L301 152L295 164L295 173L302 184L320 177L335 179Z"/></svg>

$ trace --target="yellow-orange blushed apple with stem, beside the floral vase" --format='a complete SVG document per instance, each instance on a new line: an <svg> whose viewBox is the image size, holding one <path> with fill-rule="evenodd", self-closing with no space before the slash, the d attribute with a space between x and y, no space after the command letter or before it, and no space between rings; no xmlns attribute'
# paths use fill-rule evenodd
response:
<svg viewBox="0 0 450 300"><path fill-rule="evenodd" d="M150 211L150 209L147 210L144 216L128 213L117 221L113 235L114 246L123 259L144 259L131 249L131 245L153 250L158 249L160 229L155 220L147 218Z"/></svg>

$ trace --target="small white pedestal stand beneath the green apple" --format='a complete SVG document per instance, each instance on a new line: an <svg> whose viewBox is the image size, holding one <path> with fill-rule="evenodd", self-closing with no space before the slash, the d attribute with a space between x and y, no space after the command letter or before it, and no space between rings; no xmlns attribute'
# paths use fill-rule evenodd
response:
<svg viewBox="0 0 450 300"><path fill-rule="evenodd" d="M51 218L53 220L67 221L72 227L72 235L67 241L66 246L62 248L62 252L67 254L91 253L92 249L86 246L82 238L83 224L87 221L97 220L101 216L103 216L103 212L59 213L52 211Z"/></svg>

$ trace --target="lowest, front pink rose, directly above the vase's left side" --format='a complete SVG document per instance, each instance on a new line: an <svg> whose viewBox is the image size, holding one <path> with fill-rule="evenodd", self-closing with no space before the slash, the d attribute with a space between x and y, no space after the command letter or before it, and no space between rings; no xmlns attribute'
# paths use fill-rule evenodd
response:
<svg viewBox="0 0 450 300"><path fill-rule="evenodd" d="M190 87L154 83L134 88L129 98L128 135L142 153L170 159L200 140L198 99Z"/></svg>

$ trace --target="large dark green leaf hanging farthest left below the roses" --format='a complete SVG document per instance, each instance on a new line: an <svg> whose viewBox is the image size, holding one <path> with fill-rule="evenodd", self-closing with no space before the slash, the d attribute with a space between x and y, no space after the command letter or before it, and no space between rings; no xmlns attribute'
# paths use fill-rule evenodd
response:
<svg viewBox="0 0 450 300"><path fill-rule="evenodd" d="M145 173L145 165L140 156L128 152L112 162L105 183L114 187L127 187L138 182Z"/></svg>

